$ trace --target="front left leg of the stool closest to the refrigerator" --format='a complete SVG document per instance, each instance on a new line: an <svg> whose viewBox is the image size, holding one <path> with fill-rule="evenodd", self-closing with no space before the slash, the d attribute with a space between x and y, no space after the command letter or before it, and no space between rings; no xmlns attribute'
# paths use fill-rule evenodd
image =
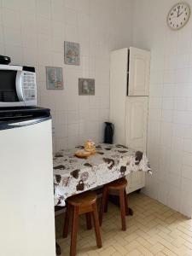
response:
<svg viewBox="0 0 192 256"><path fill-rule="evenodd" d="M75 256L76 254L78 224L79 224L79 207L74 207L70 256Z"/></svg>

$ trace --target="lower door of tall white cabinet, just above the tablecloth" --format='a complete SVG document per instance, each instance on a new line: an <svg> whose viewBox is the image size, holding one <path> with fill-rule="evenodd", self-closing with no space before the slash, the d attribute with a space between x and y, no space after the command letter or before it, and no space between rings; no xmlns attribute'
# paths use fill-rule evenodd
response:
<svg viewBox="0 0 192 256"><path fill-rule="evenodd" d="M126 146L146 151L148 130L148 97L126 97L125 138Z"/></svg>

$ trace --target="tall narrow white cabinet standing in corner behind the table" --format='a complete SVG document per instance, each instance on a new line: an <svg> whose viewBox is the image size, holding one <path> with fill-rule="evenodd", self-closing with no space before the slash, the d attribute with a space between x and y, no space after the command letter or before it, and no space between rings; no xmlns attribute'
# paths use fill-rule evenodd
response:
<svg viewBox="0 0 192 256"><path fill-rule="evenodd" d="M110 60L110 122L114 124L114 143L146 151L148 132L148 84L150 52L118 49ZM127 176L127 193L145 185L145 174Z"/></svg>

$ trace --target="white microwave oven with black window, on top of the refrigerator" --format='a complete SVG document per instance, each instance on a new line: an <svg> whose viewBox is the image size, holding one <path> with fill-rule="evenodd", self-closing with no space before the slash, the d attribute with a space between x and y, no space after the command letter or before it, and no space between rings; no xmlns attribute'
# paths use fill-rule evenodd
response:
<svg viewBox="0 0 192 256"><path fill-rule="evenodd" d="M35 68L0 65L0 108L36 105Z"/></svg>

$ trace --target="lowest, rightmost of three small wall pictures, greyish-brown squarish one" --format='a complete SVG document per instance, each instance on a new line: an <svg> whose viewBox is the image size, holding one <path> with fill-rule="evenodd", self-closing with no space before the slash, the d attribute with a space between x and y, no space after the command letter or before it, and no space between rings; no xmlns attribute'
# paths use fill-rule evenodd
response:
<svg viewBox="0 0 192 256"><path fill-rule="evenodd" d="M79 79L79 96L95 95L95 79Z"/></svg>

